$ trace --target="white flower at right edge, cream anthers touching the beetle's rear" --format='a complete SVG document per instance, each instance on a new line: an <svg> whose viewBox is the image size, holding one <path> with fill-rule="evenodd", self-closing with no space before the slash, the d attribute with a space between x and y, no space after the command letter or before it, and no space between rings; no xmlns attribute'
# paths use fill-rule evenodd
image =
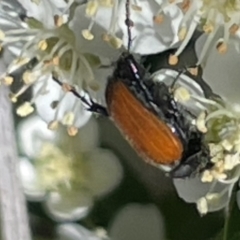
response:
<svg viewBox="0 0 240 240"><path fill-rule="evenodd" d="M221 61L225 59L221 58ZM213 63L210 61L211 55L207 63L210 64L209 67L212 67ZM220 65L221 67L223 66ZM214 72L216 75L221 75L223 74L221 71L216 69ZM163 81L170 86L177 74L174 70L161 69L155 72L152 77L153 80ZM215 78L218 85L219 81L226 81L226 79L221 80L220 75L219 79ZM211 81L207 82L211 85ZM234 89L234 82L227 88L226 93L230 87ZM218 88L220 89L221 85ZM233 186L240 176L240 114L237 111L238 104L234 104L234 101L231 103L228 98L224 98L226 86L221 88L221 96L224 100L207 99L201 86L185 74L179 76L174 89L174 97L179 104L198 116L192 120L192 124L196 125L198 130L204 134L204 141L210 151L209 160L213 165L194 178L174 180L177 192L185 201L195 202L201 214L220 210L228 205ZM231 98L229 96L230 100L234 97L239 98L239 95L231 96Z"/></svg>

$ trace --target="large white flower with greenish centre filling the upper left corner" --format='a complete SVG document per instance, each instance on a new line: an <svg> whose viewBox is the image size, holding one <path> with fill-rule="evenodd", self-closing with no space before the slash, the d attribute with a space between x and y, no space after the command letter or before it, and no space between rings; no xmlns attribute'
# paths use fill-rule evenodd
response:
<svg viewBox="0 0 240 240"><path fill-rule="evenodd" d="M102 100L103 96L99 96L97 90L105 85L108 75L101 78L98 76L97 68L102 62L100 57L104 57L103 62L110 66L112 58L116 59L119 53L100 38L89 44L79 31L84 28L87 20L83 12L74 12L72 21L67 21L65 16L68 15L72 2L21 1L27 14L24 19L20 19L18 13L11 12L14 9L11 4L5 1L0 3L2 18L6 18L6 24L3 21L0 30L1 46L6 49L13 46L20 48L14 52L17 58L8 65L0 79L7 85L19 78L22 80L22 87L10 95L13 102L17 102L26 90L34 89L32 99L17 109L18 115L29 115L35 104L39 115L49 123L50 129L56 129L58 122L61 122L68 127L70 135L75 135L77 128L82 127L91 114L84 110L89 106L83 106L80 100L66 91L74 87L88 100L89 96L83 90L91 92L92 98ZM11 11L7 11L9 8ZM9 25L11 19L13 21ZM96 28L96 31L99 30ZM105 49L101 48L101 44ZM102 51L97 52L98 49ZM101 69L99 71L103 72ZM19 72L22 72L20 76ZM52 76L57 78L58 84L53 82ZM66 84L61 88L60 83Z"/></svg>

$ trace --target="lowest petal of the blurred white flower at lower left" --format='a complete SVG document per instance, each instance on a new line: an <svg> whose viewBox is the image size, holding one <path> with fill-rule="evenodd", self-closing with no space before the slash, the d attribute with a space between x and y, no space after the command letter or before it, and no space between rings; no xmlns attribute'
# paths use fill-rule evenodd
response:
<svg viewBox="0 0 240 240"><path fill-rule="evenodd" d="M69 189L64 192L51 192L43 203L47 213L56 221L76 221L85 217L93 202L87 191Z"/></svg>

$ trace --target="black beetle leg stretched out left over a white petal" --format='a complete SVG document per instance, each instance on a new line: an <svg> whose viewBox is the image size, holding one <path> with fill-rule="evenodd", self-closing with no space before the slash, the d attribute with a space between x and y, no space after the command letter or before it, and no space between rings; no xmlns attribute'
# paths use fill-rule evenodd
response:
<svg viewBox="0 0 240 240"><path fill-rule="evenodd" d="M56 78L54 75L52 76L52 79L59 84L61 87L64 87L64 83L62 83L58 78ZM66 84L66 90L71 92L75 97L79 98L86 106L87 110L93 113L98 113L104 116L109 116L107 108L102 106L99 103L96 103L91 98L87 98L86 96L83 96L77 92L77 90L68 84Z"/></svg>

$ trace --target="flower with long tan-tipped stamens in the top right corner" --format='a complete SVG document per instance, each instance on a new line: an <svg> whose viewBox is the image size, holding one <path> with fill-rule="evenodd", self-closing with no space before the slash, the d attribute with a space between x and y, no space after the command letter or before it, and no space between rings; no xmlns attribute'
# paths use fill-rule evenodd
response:
<svg viewBox="0 0 240 240"><path fill-rule="evenodd" d="M179 2L181 2L179 4ZM170 58L170 63L175 65L178 56L185 49L193 36L194 31L200 26L207 36L207 40L201 49L197 65L204 63L209 50L215 45L218 52L225 53L228 50L231 39L239 41L239 1L174 1L165 6L179 6L184 12L179 29L179 37L182 40L175 54ZM163 8L165 8L163 4Z"/></svg>

